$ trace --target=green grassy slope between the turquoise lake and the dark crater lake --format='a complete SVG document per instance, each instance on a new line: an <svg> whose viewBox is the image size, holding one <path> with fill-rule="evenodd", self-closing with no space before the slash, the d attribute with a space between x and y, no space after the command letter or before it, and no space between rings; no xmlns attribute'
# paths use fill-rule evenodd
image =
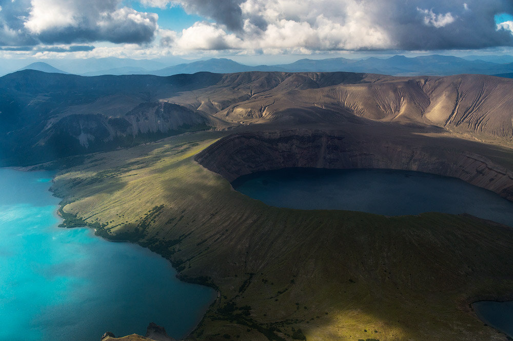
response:
<svg viewBox="0 0 513 341"><path fill-rule="evenodd" d="M469 303L511 297L511 228L270 207L193 161L224 134L94 154L53 185L68 225L147 246L219 290L191 338L505 339Z"/></svg>

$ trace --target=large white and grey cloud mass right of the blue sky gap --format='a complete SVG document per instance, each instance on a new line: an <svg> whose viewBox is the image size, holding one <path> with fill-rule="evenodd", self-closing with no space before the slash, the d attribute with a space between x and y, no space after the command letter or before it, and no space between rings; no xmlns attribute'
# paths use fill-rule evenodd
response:
<svg viewBox="0 0 513 341"><path fill-rule="evenodd" d="M213 49L436 50L513 46L509 32L497 30L494 23L495 14L513 13L510 0L181 0L180 3L188 12L213 19L215 23L209 32L215 31L218 37L235 34L239 39L222 44L223 38L219 38L216 40L219 44L201 45Z"/></svg>

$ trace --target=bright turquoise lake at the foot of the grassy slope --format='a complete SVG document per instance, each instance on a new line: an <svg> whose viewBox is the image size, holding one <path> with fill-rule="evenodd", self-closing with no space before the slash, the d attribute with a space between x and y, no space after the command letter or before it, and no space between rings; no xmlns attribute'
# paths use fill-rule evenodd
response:
<svg viewBox="0 0 513 341"><path fill-rule="evenodd" d="M175 278L160 255L57 225L53 173L0 169L0 340L175 338L199 323L215 291Z"/></svg>

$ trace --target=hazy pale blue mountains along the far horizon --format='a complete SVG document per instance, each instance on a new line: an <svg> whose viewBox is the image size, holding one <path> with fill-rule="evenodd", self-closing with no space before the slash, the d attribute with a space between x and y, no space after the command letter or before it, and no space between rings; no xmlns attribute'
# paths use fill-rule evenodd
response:
<svg viewBox="0 0 513 341"><path fill-rule="evenodd" d="M396 55L390 58L370 57L365 59L328 58L328 59L301 59L289 64L248 66L231 59L212 58L198 60L169 67L163 67L162 61L135 60L122 58L84 59L74 61L76 65L68 65L63 70L89 70L91 65L102 65L104 69L97 69L79 73L84 76L98 75L129 75L146 74L155 76L171 76L176 74L193 74L196 72L236 73L248 71L278 71L278 72L363 72L393 76L418 76L418 75L455 75L455 74L484 74L498 75L513 73L513 62L491 62L481 59L460 58L444 55L430 55L420 57L405 57ZM485 58L486 59L486 58ZM495 60L513 60L511 56L488 57ZM71 63L68 60L67 63ZM62 63L62 62L61 62ZM60 72L59 66L53 67L46 63L38 62L23 69L33 69L45 72ZM48 71L47 71L48 70Z"/></svg>

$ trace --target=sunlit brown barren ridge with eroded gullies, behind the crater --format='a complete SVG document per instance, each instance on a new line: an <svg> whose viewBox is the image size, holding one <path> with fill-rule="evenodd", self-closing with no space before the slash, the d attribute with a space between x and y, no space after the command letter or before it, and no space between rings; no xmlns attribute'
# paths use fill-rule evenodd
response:
<svg viewBox="0 0 513 341"><path fill-rule="evenodd" d="M385 122L435 125L488 140L513 141L511 79L483 75L251 75L244 86L227 86L229 81L223 78L215 87L169 100L198 107L212 104L215 109L209 110L210 114L243 124L341 123L348 115L356 115Z"/></svg>

